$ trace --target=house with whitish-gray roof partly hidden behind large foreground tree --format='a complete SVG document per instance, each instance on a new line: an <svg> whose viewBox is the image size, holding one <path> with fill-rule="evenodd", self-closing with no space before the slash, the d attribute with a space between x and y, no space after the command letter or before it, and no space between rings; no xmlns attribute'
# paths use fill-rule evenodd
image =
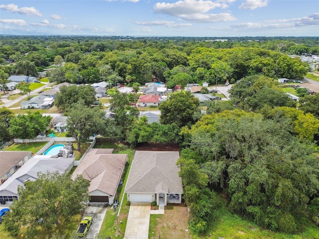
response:
<svg viewBox="0 0 319 239"><path fill-rule="evenodd" d="M0 185L0 201L12 202L18 199L18 186L27 180L36 180L38 172L64 173L73 167L74 158L49 158L50 156L35 155L25 162L11 177Z"/></svg>

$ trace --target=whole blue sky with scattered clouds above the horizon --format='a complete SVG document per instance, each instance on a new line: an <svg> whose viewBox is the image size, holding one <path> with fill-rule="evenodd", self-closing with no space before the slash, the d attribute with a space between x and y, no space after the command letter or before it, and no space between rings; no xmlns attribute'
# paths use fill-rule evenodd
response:
<svg viewBox="0 0 319 239"><path fill-rule="evenodd" d="M1 0L0 33L319 36L319 0Z"/></svg>

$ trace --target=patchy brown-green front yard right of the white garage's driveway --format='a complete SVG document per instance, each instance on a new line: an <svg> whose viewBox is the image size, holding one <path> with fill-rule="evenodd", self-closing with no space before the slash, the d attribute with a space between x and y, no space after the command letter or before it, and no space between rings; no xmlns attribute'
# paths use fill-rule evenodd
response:
<svg viewBox="0 0 319 239"><path fill-rule="evenodd" d="M157 219L157 226L150 239L173 238L173 239L191 239L187 228L189 213L185 206L169 207L164 215Z"/></svg>

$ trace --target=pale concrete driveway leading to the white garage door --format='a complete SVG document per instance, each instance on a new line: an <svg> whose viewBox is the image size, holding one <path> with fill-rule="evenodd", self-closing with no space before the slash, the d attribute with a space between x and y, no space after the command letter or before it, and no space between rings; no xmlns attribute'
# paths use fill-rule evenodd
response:
<svg viewBox="0 0 319 239"><path fill-rule="evenodd" d="M150 226L150 203L131 203L125 239L148 239Z"/></svg>

